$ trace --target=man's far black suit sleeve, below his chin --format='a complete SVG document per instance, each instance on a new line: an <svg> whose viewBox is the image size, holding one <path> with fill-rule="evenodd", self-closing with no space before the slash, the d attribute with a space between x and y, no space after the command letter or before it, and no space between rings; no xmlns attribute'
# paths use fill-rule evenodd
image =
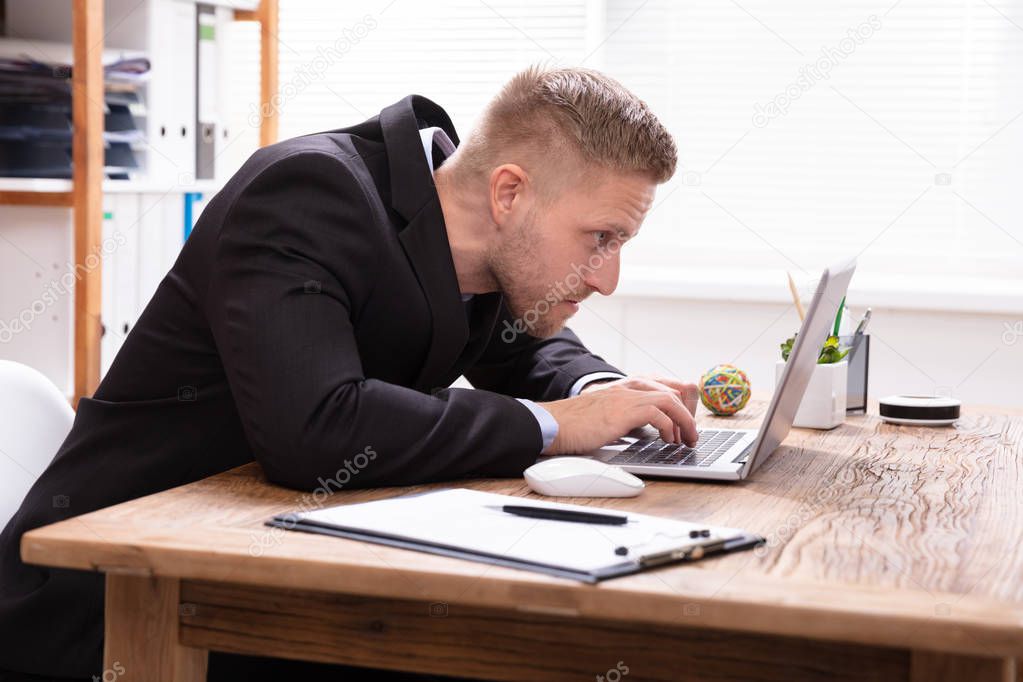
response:
<svg viewBox="0 0 1023 682"><path fill-rule="evenodd" d="M490 343L465 378L478 389L551 401L568 398L576 381L596 372L625 374L586 350L568 327L548 338L519 332L502 307Z"/></svg>

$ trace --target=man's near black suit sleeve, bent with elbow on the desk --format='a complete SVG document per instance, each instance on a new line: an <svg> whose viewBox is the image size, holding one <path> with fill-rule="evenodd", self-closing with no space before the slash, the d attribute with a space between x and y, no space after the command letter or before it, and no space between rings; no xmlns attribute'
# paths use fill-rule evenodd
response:
<svg viewBox="0 0 1023 682"><path fill-rule="evenodd" d="M255 458L300 490L521 475L542 442L517 400L364 375L353 320L386 220L370 207L340 160L310 151L272 161L225 216L207 316Z"/></svg>

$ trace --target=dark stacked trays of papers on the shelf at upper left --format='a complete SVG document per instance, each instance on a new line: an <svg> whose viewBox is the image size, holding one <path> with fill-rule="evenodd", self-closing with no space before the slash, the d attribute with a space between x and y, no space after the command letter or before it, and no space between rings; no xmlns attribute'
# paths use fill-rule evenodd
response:
<svg viewBox="0 0 1023 682"><path fill-rule="evenodd" d="M135 149L145 135L138 89L149 62L121 59L104 66L103 166L107 177L128 179L139 168ZM72 176L71 65L27 57L0 57L0 175Z"/></svg>

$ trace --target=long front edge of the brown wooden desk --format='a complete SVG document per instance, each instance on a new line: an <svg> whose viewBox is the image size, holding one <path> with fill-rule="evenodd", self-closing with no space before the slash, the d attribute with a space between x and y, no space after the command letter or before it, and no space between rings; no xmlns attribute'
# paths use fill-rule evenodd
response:
<svg viewBox="0 0 1023 682"><path fill-rule="evenodd" d="M506 608L537 613L558 613L577 619L696 627L756 634L806 637L859 644L905 647L973 655L1023 657L1023 607L920 591L866 589L779 579L745 579L742 587L718 587L721 576L688 569L686 578L703 584L704 592L616 590L616 581L596 586L524 574L514 577L476 576L421 570L343 564L310 559L297 582L294 557L244 556L257 570L235 572L211 554L205 561L180 567L175 549L96 547L88 539L50 538L55 527L37 529L21 540L27 562L64 569L97 571L108 575L172 578L183 582L216 582L261 588L330 592L381 600L405 599ZM92 561L81 560L82 548L91 545ZM70 551L69 551L70 550ZM239 558L232 555L232 558ZM456 559L451 559L456 560ZM479 564L481 571L492 567ZM344 581L339 581L339 572ZM511 570L506 570L511 571ZM241 574L243 573L243 576ZM470 585L466 588L466 584ZM834 605L836 588L844 590L843 603ZM822 605L828 604L828 605ZM696 607L699 617L686 616Z"/></svg>

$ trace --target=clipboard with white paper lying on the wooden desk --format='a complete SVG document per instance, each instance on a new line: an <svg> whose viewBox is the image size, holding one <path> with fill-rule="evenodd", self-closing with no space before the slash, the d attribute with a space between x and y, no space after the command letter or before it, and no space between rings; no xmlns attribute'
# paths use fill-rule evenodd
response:
<svg viewBox="0 0 1023 682"><path fill-rule="evenodd" d="M504 505L603 512L622 526L525 517ZM731 528L617 509L535 501L463 488L274 516L268 526L535 571L595 583L676 561L749 549L764 539Z"/></svg>

